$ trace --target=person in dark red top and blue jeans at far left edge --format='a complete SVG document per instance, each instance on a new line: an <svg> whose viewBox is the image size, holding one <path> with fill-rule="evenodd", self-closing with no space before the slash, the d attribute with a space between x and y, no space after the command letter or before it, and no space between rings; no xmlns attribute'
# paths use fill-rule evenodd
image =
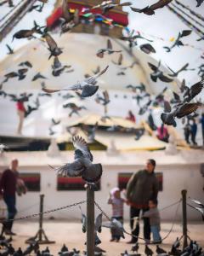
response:
<svg viewBox="0 0 204 256"><path fill-rule="evenodd" d="M0 182L1 198L3 198L3 201L5 202L8 210L8 219L3 224L3 232L9 236L15 235L12 232L12 219L14 219L14 216L17 213L15 207L15 192L18 177L18 165L19 161L17 159L12 160L10 169L7 169L3 172Z"/></svg>

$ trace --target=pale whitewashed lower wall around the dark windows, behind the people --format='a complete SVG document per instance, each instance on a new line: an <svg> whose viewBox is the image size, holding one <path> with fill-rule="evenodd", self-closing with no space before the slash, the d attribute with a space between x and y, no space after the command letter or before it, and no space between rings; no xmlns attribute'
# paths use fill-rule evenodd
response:
<svg viewBox="0 0 204 256"><path fill-rule="evenodd" d="M34 159L33 162L37 161ZM95 201L99 203L105 212L111 216L111 206L107 205L107 197L110 189L117 186L118 172L136 172L143 166L103 166L104 172L101 177L101 190L95 193ZM1 170L3 168L1 167ZM20 172L40 172L41 173L41 192L44 197L44 210L55 207L63 207L77 201L86 199L86 191L57 191L57 178L55 173L47 166L23 166ZM191 198L203 201L203 177L201 177L200 165L169 165L157 166L156 172L163 172L163 191L159 193L159 208L166 207L181 197L181 190L187 189ZM38 192L28 192L26 195L18 197L17 207L18 216L36 213L39 211ZM3 202L1 202L2 205ZM176 207L170 207L161 212L161 218L172 220ZM82 211L86 211L86 204L82 205ZM99 212L96 210L96 212ZM59 212L45 215L45 218L80 219L81 212L79 207L71 207ZM125 218L128 219L129 208L125 206ZM181 206L178 211L178 218L181 218ZM188 218L190 220L201 220L199 212L188 207Z"/></svg>

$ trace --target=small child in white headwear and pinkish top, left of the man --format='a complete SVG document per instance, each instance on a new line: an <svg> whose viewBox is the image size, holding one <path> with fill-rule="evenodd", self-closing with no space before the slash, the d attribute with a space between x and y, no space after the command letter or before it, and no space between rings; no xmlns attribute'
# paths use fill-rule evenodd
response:
<svg viewBox="0 0 204 256"><path fill-rule="evenodd" d="M118 188L111 189L110 197L108 199L108 204L112 205L112 219L116 218L121 223L123 223L123 203L124 199L121 198L121 191ZM120 236L116 234L116 230L111 229L111 240L110 241L120 241Z"/></svg>

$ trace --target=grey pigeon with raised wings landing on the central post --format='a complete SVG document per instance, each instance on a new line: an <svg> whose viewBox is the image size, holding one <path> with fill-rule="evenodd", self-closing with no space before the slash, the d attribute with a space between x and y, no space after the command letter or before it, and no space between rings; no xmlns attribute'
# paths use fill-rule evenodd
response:
<svg viewBox="0 0 204 256"><path fill-rule="evenodd" d="M75 148L75 160L54 170L63 176L81 176L88 183L97 182L103 172L101 164L93 164L93 155L82 137L73 137L72 142Z"/></svg>

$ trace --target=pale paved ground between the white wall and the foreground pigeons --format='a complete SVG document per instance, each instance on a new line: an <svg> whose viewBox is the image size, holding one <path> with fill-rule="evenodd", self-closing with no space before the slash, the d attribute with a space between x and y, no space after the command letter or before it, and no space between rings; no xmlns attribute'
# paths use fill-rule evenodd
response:
<svg viewBox="0 0 204 256"><path fill-rule="evenodd" d="M167 235L168 231L171 229L172 224L162 223L161 226L161 236L164 237ZM129 231L128 223L124 224L124 228ZM57 221L57 220L47 220L43 224L43 229L48 236L48 239L56 241L54 244L49 245L50 251L54 256L58 255L59 248L66 244L69 249L73 247L77 247L80 250L84 250L86 247L84 242L86 240L86 234L82 233L82 225L79 222L66 222L66 221ZM37 233L38 224L34 221L18 221L14 223L14 232L18 234L18 236L14 236L14 247L22 247L26 248L25 241L27 238L34 236ZM188 225L189 236L192 240L198 241L198 243L204 247L204 223L192 223ZM142 234L140 234L142 235ZM171 244L176 239L176 237L180 237L182 235L182 227L180 224L175 224L173 227L173 231L167 237L161 247L169 250ZM103 228L102 233L99 234L99 238L102 243L99 247L106 250L105 255L109 256L120 256L124 250L130 252L131 245L127 244L127 241L130 240L130 236L126 235L125 239L116 243L110 241L110 230ZM142 241L141 241L142 242ZM46 247L42 245L41 248ZM155 246L150 246L155 250ZM139 245L139 253L144 253L144 245Z"/></svg>

